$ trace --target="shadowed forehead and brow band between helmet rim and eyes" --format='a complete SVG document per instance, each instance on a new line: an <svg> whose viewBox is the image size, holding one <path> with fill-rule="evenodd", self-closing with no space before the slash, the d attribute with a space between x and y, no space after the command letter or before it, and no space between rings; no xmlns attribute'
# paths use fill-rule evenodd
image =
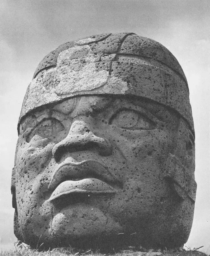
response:
<svg viewBox="0 0 210 256"><path fill-rule="evenodd" d="M120 110L126 109L131 110L131 112L137 111L147 119L149 118L153 122L161 124L162 127L165 126L167 129L177 126L180 119L180 115L176 111L169 110L166 106L144 98L120 95L77 96L57 104L42 106L29 113L20 123L20 133L29 127L35 127L44 119L49 118L56 118L65 123L71 120L71 123L73 119L79 116L92 116L95 121L104 119L106 123L109 123L115 114Z"/></svg>

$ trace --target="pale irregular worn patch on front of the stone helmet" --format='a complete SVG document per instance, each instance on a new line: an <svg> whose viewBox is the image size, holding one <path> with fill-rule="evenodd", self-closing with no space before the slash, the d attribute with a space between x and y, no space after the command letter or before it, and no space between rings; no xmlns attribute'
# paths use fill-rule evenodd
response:
<svg viewBox="0 0 210 256"><path fill-rule="evenodd" d="M128 90L127 83L117 77L110 77L109 71L98 70L94 61L95 57L89 46L73 47L61 52L57 64L60 83L53 88L54 92L65 97L87 94L87 91L92 91L93 94L125 94ZM100 90L96 92L95 89L99 87Z"/></svg>

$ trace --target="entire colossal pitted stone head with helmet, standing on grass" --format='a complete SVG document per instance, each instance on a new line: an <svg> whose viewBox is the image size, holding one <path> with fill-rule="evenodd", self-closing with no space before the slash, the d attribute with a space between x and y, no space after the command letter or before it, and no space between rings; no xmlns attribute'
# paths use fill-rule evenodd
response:
<svg viewBox="0 0 210 256"><path fill-rule="evenodd" d="M18 123L14 233L32 247L177 247L194 212L186 77L133 33L68 42L37 67Z"/></svg>

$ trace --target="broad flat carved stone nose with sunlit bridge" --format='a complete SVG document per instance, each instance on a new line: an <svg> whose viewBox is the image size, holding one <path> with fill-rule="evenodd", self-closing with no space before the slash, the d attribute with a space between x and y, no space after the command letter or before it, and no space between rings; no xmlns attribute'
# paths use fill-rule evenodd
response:
<svg viewBox="0 0 210 256"><path fill-rule="evenodd" d="M91 150L93 147L102 156L112 154L112 146L107 139L94 135L86 122L74 121L67 137L53 147L52 154L57 162L65 152Z"/></svg>

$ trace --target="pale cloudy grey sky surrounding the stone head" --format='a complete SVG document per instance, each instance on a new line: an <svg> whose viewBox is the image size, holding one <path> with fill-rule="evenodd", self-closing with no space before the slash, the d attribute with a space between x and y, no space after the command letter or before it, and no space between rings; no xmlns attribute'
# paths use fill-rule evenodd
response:
<svg viewBox="0 0 210 256"><path fill-rule="evenodd" d="M1 0L0 3L0 249L13 234L10 178L17 123L26 88L41 59L60 44L108 32L134 32L168 48L190 90L198 184L186 246L210 253L209 0Z"/></svg>

